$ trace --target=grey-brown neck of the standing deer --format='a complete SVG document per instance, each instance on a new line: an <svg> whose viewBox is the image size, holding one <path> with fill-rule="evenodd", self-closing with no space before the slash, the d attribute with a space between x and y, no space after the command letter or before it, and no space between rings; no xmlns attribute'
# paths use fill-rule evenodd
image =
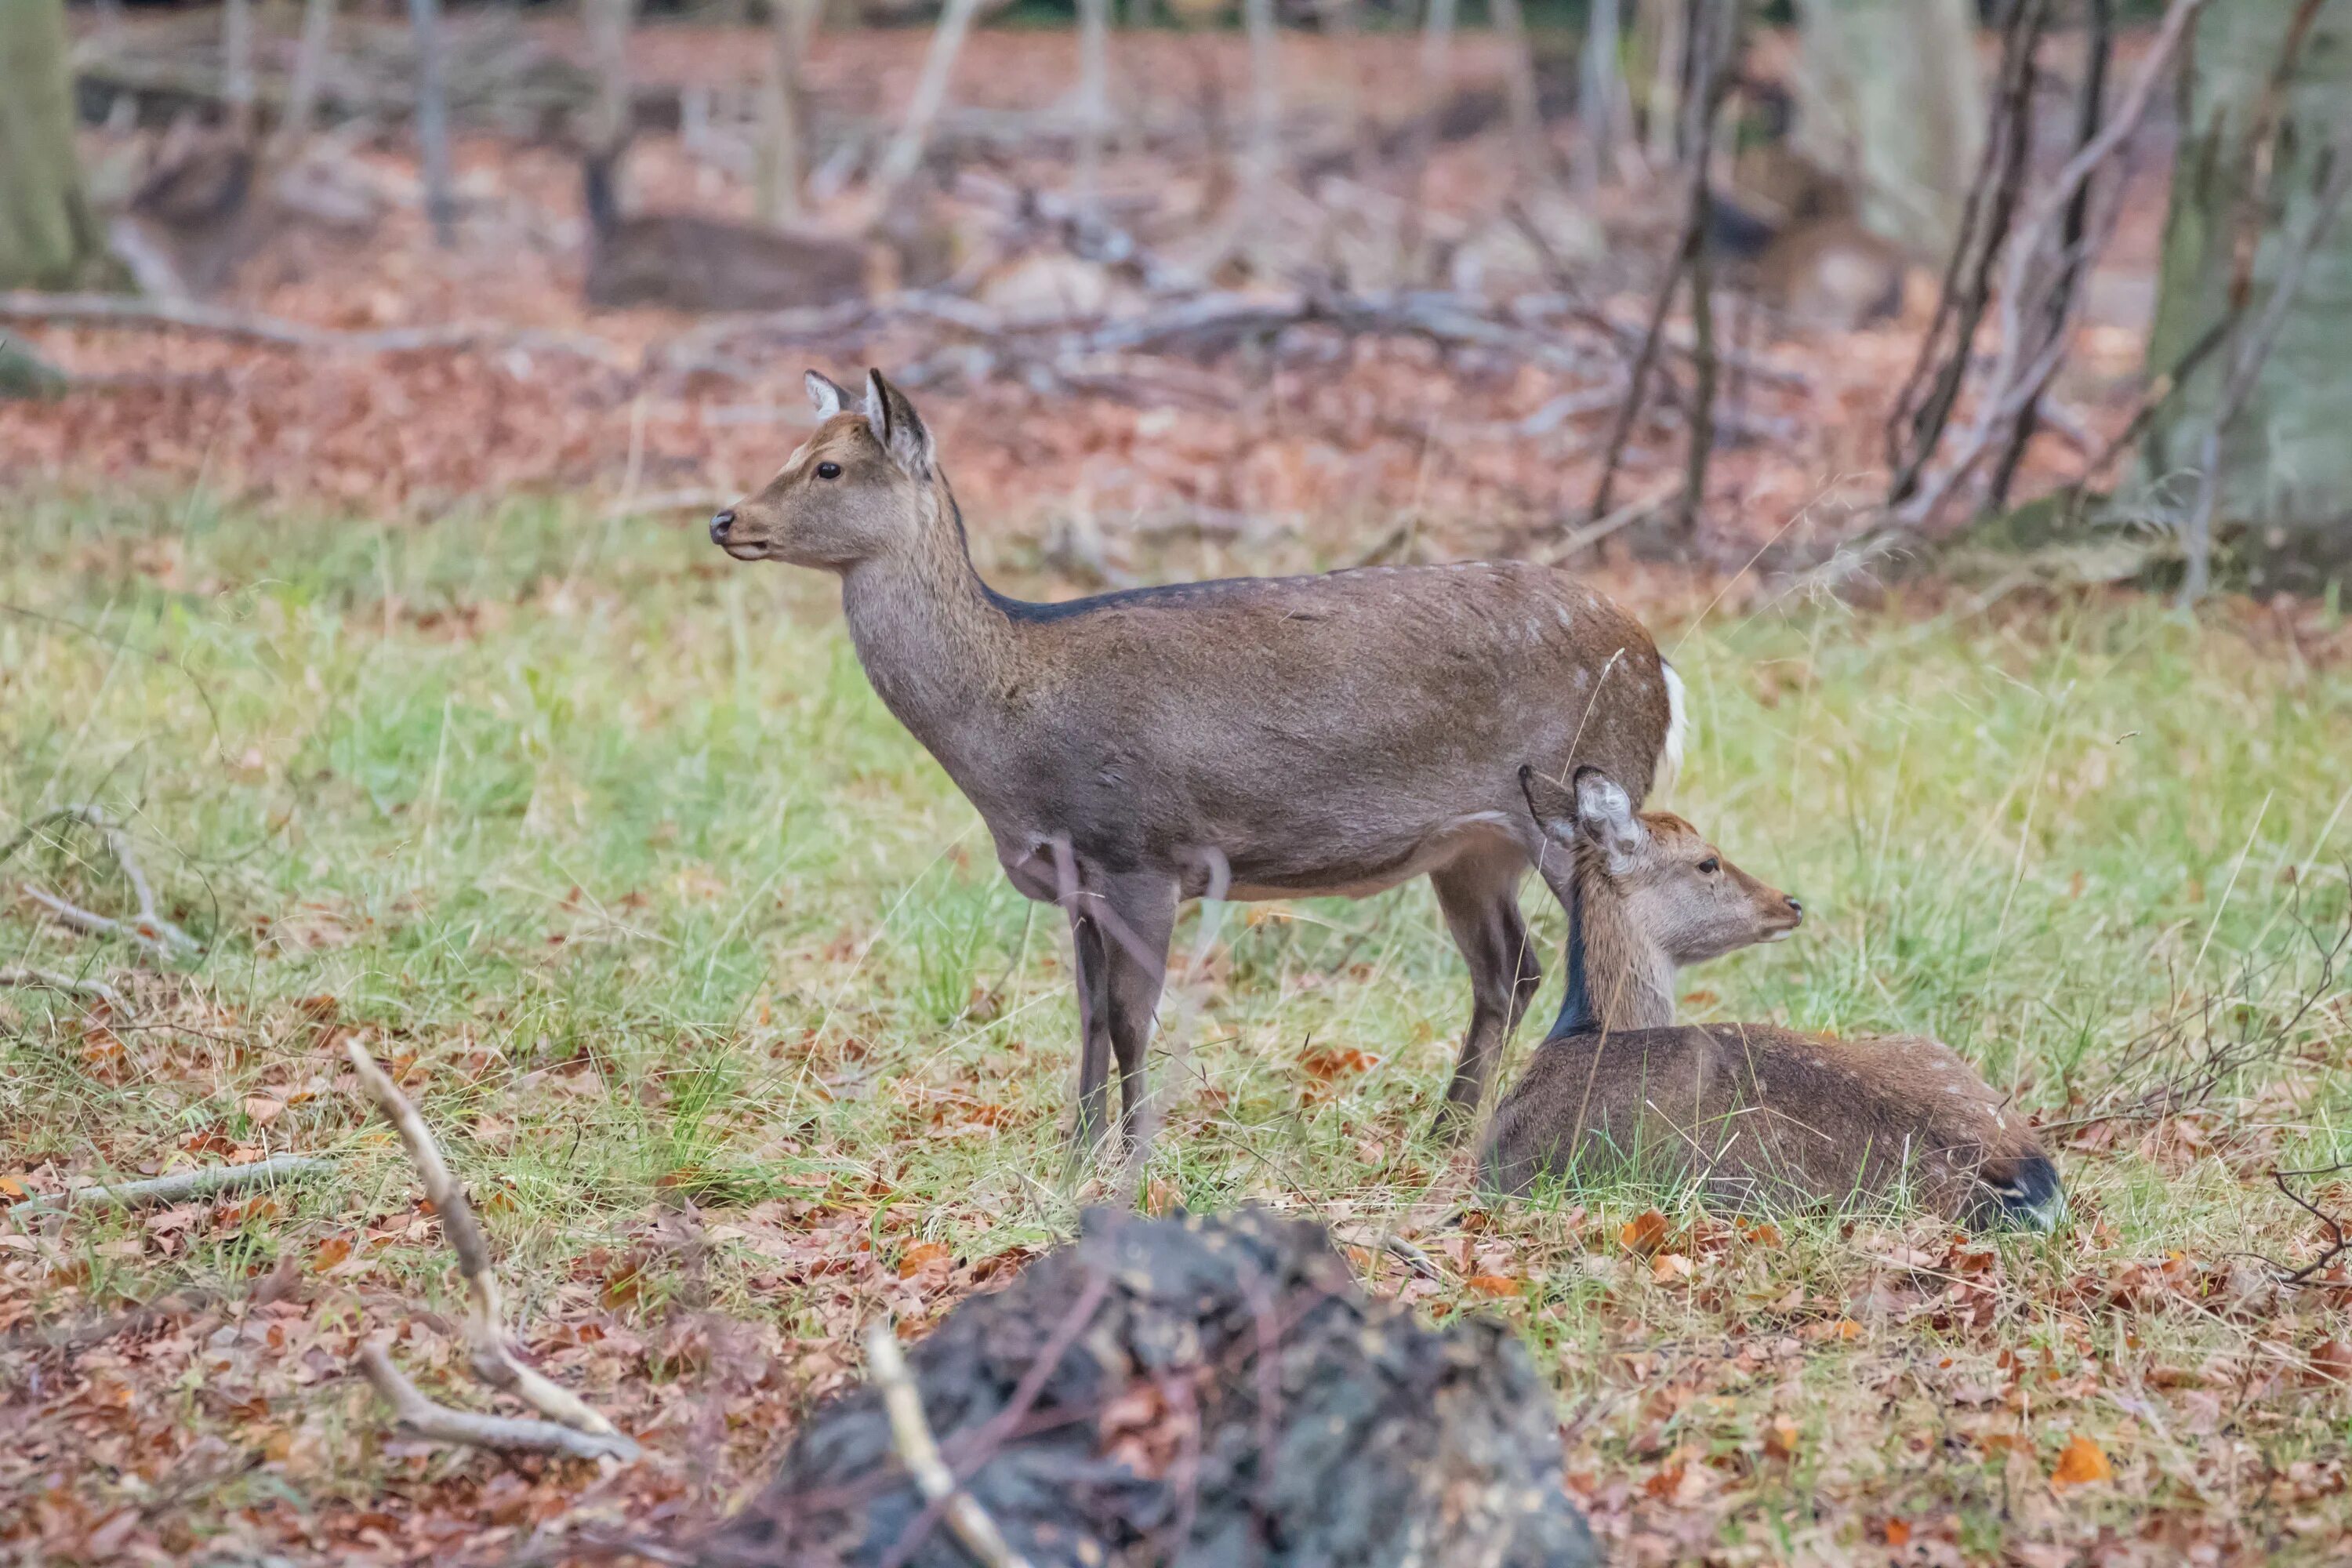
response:
<svg viewBox="0 0 2352 1568"><path fill-rule="evenodd" d="M842 574L842 618L882 703L957 773L964 743L995 712L1014 628L971 567L946 480L924 496L924 512L903 548Z"/></svg>

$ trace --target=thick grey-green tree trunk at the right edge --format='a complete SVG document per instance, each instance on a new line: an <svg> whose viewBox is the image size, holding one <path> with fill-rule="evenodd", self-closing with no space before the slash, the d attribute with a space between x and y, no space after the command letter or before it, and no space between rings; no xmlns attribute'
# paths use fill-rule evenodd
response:
<svg viewBox="0 0 2352 1568"><path fill-rule="evenodd" d="M2307 9L2213 5L2197 24L2147 341L2150 369L2169 374L2234 306L2223 348L2150 423L2140 475L2183 505L2211 451L2216 531L2239 534L2256 588L2352 576L2352 221L2324 212L2331 167L2352 158L2352 7L2319 5L2305 19L2310 33L2272 94L2288 28ZM2249 360L2241 350L2265 317L2279 329L2267 355ZM2232 409L2234 367L2244 376Z"/></svg>

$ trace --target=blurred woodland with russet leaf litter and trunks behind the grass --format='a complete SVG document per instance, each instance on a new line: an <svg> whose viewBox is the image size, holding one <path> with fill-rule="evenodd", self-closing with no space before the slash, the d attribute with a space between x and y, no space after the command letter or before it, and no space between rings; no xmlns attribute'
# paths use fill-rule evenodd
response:
<svg viewBox="0 0 2352 1568"><path fill-rule="evenodd" d="M689 512L875 362L1082 583L2321 588L2345 9L24 2L0 463Z"/></svg>

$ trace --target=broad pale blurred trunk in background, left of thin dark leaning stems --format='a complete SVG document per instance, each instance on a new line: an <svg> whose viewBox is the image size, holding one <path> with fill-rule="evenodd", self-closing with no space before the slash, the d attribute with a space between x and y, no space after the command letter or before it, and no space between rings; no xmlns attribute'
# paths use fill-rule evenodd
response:
<svg viewBox="0 0 2352 1568"><path fill-rule="evenodd" d="M1844 174L1863 226L1940 259L1985 146L1973 0L1802 0L1806 155Z"/></svg>

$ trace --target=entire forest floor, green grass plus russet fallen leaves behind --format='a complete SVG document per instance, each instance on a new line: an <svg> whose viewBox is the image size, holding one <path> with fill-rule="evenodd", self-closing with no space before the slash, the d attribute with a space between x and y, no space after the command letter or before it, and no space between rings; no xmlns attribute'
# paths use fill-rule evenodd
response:
<svg viewBox="0 0 2352 1568"><path fill-rule="evenodd" d="M644 45L644 78L731 82L741 106L741 38ZM920 45L823 35L818 129L887 122ZM960 101L1042 113L1070 56L983 31ZM1284 59L1296 129L1322 134L1338 56L1287 38ZM1120 101L1171 129L1115 148L1105 188L1183 252L1232 169L1183 153L1181 110L1244 101L1240 42L1122 35L1117 61ZM1367 103L1411 101L1416 40L1371 38L1357 63ZM1458 68L1491 89L1482 40ZM141 139L92 132L89 165ZM858 1375L868 1321L920 1333L1105 1197L1056 1182L1075 1032L1056 922L880 708L830 585L701 534L696 510L809 428L804 364L946 364L917 402L974 548L1044 597L1545 552L1590 505L1625 369L1599 334L1555 331L1531 364L1308 327L1040 381L955 371L974 343L941 320L677 369L663 350L696 322L581 306L564 153L466 132L442 252L397 141L322 155L365 216L289 221L219 303L593 353L49 324L26 336L80 386L0 404L0 842L103 804L200 943L158 964L47 922L24 886L132 907L89 832L49 823L0 865L0 969L120 992L0 990L0 1559L489 1563L675 1540ZM722 143L647 136L633 200L741 214ZM2072 477L2138 397L2164 153L2152 125L2020 494ZM1402 282L1557 282L1515 249L1508 167L1491 115L1437 141L1421 190L1446 259ZM1021 153L988 169L1068 181ZM1279 205L1282 266L1376 254L1402 212L1392 169L1315 193ZM1023 266L988 252L985 202L948 212L976 289ZM1639 322L1656 193L1536 216L1590 299ZM1425 1135L1468 985L1423 886L1221 914L1183 983L1181 1065L1157 1060L1176 1100L1141 1197L1312 1215L1369 1288L1522 1328L1562 1394L1566 1483L1621 1563L2343 1561L2352 1269L2277 1276L2324 1258L2319 1215L2352 1211L2352 1180L2272 1171L2352 1159L2352 1001L2326 964L2352 917L2352 628L2321 604L2190 618L2018 571L1856 609L1750 571L1766 545L1825 555L1884 494L1889 393L1931 296L1915 275L1879 327L1757 327L1686 559L1618 541L1583 559L1689 677L1698 738L1670 804L1809 910L1795 943L1696 971L1684 1013L1938 1034L2044 1124L2072 1222L1755 1222L1639 1190L1486 1206ZM1672 409L1635 428L1628 498L1672 494L1679 437ZM1529 903L1557 952L1557 912ZM480 1401L449 1251L355 1095L348 1039L473 1185L522 1342L647 1460L390 1436L350 1371L367 1335ZM2230 1072L2201 1072L2213 1048ZM2157 1114L2164 1088L2192 1093ZM334 1168L40 1213L94 1180L280 1152Z"/></svg>

